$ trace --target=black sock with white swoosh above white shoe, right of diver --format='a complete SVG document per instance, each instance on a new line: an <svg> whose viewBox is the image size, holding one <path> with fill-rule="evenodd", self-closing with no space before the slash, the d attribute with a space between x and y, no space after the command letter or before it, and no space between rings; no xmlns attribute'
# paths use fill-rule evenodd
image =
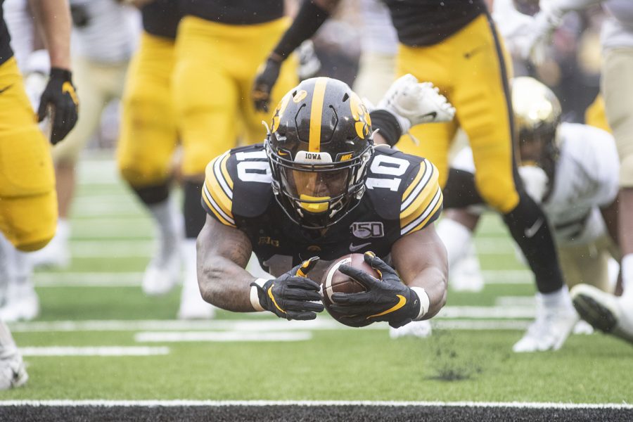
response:
<svg viewBox="0 0 633 422"><path fill-rule="evenodd" d="M514 210L504 215L504 222L528 260L539 292L551 293L563 287L549 224L543 211L527 193L523 192Z"/></svg>

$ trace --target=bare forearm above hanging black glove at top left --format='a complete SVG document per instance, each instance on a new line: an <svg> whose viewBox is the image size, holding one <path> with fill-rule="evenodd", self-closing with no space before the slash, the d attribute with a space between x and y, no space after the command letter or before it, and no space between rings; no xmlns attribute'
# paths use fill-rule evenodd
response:
<svg viewBox="0 0 633 422"><path fill-rule="evenodd" d="M70 6L68 0L30 0L31 10L49 51L51 68L70 70Z"/></svg>

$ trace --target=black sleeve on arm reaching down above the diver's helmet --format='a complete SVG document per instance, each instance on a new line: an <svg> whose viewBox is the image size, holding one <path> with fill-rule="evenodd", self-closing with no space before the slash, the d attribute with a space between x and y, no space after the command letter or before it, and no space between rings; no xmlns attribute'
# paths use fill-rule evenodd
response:
<svg viewBox="0 0 633 422"><path fill-rule="evenodd" d="M305 0L286 33L283 34L279 44L273 53L282 60L286 60L290 53L316 33L323 23L330 17L329 13L314 4L311 0Z"/></svg>

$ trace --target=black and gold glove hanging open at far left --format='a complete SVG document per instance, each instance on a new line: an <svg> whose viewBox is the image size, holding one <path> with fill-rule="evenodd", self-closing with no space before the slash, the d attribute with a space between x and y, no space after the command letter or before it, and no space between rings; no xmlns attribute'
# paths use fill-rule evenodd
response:
<svg viewBox="0 0 633 422"><path fill-rule="evenodd" d="M39 122L51 108L51 143L55 145L68 135L77 123L79 100L72 86L70 70L51 68L49 83L41 94L37 119Z"/></svg>

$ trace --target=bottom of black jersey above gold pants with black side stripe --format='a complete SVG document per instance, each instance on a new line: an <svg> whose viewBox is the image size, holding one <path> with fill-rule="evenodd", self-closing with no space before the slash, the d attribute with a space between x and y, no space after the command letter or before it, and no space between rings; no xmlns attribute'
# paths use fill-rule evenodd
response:
<svg viewBox="0 0 633 422"><path fill-rule="evenodd" d="M399 41L412 47L437 44L487 10L483 0L383 1Z"/></svg>

